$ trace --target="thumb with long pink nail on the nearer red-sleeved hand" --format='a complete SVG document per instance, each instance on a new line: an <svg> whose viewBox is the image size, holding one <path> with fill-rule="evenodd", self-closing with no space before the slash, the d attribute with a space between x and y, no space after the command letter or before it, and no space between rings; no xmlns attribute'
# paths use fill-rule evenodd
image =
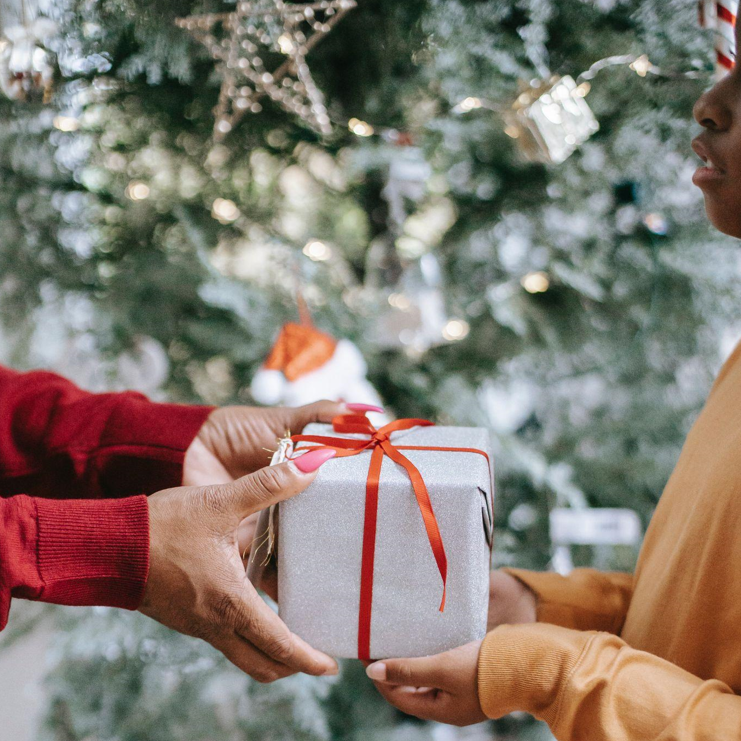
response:
<svg viewBox="0 0 741 741"><path fill-rule="evenodd" d="M300 494L316 478L317 469L337 451L312 450L292 461L266 466L229 484L215 486L209 498L215 508L238 525L245 517Z"/></svg>

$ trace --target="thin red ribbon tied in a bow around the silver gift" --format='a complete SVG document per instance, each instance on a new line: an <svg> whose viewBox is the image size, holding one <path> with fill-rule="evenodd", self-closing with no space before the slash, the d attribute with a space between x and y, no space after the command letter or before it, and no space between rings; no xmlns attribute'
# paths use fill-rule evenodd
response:
<svg viewBox="0 0 741 741"><path fill-rule="evenodd" d="M384 456L398 463L406 470L412 483L414 496L417 499L419 510L422 513L427 539L430 542L438 571L443 580L443 594L440 602L440 612L445 609L445 597L448 579L448 560L445 556L445 547L440 535L440 528L432 508L430 495L427 491L422 474L416 466L400 450L442 450L462 453L478 453L483 455L487 462L489 456L483 450L475 448L439 448L419 445L394 445L391 434L399 430L409 430L412 427L429 427L434 423L426 419L399 419L376 429L371 421L360 414L347 414L335 417L332 426L335 432L356 433L368 435L367 439L346 437L325 437L322 435L294 435L294 443L317 443L314 447L331 448L337 451L337 458L345 458L371 451L368 478L365 487L365 519L363 525L363 555L360 568L360 608L358 610L358 658L369 660L370 657L370 629L371 613L373 608L373 567L376 552L376 524L378 521L378 486L381 478L381 466Z"/></svg>

